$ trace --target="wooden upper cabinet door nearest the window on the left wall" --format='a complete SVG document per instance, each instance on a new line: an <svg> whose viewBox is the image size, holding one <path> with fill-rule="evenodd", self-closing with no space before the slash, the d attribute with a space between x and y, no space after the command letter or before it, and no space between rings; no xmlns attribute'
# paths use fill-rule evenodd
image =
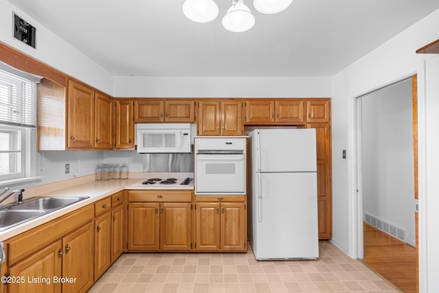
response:
<svg viewBox="0 0 439 293"><path fill-rule="evenodd" d="M67 91L67 148L95 146L95 93L69 80Z"/></svg>

